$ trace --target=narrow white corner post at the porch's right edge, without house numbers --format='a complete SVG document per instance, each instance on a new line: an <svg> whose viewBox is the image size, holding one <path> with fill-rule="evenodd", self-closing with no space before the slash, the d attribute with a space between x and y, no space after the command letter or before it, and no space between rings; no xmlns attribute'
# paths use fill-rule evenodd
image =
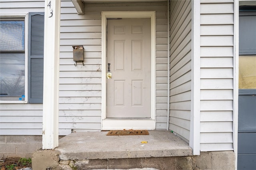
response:
<svg viewBox="0 0 256 170"><path fill-rule="evenodd" d="M192 0L191 115L189 146L200 155L200 0Z"/></svg>

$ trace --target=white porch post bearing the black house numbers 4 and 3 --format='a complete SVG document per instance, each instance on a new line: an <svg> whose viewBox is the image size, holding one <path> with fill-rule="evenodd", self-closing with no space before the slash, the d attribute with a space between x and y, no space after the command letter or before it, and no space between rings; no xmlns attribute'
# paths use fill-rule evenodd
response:
<svg viewBox="0 0 256 170"><path fill-rule="evenodd" d="M46 0L44 9L42 149L54 149L58 146L60 0Z"/></svg>

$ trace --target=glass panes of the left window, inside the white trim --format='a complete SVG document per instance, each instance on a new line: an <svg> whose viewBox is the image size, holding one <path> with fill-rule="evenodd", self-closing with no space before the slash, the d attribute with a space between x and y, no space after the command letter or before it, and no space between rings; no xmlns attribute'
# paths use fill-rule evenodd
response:
<svg viewBox="0 0 256 170"><path fill-rule="evenodd" d="M24 20L0 20L0 100L24 101Z"/></svg>

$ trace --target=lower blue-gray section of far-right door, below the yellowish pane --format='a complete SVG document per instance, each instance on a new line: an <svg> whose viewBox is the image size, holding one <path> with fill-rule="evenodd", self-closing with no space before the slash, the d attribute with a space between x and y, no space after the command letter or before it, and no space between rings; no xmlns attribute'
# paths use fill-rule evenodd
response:
<svg viewBox="0 0 256 170"><path fill-rule="evenodd" d="M238 96L238 169L256 169L256 93L239 89Z"/></svg>

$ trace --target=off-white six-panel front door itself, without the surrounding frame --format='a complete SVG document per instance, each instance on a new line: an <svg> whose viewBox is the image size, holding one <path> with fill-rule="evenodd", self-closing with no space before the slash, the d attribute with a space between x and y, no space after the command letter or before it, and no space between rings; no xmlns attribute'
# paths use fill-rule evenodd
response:
<svg viewBox="0 0 256 170"><path fill-rule="evenodd" d="M108 118L150 118L150 18L107 20Z"/></svg>

